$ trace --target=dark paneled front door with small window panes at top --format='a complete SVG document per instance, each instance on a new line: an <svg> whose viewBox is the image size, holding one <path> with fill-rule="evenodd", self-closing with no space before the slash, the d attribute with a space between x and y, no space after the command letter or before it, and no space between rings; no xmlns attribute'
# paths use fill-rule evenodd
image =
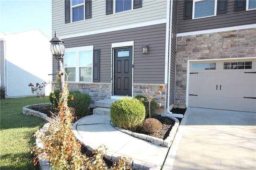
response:
<svg viewBox="0 0 256 170"><path fill-rule="evenodd" d="M132 47L114 49L115 96L132 96Z"/></svg>

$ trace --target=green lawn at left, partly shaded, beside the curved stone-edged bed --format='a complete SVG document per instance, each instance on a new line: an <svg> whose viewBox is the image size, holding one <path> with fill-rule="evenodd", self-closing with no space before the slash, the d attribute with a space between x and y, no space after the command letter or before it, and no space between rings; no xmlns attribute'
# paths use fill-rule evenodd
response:
<svg viewBox="0 0 256 170"><path fill-rule="evenodd" d="M48 96L46 103L50 103ZM0 101L1 170L36 170L33 166L33 133L44 125L39 117L22 114L22 107L44 103L43 98L27 97Z"/></svg>

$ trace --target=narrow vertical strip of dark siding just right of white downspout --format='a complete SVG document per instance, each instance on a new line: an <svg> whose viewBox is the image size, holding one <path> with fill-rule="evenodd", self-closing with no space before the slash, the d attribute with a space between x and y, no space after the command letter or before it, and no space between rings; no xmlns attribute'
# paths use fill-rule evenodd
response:
<svg viewBox="0 0 256 170"><path fill-rule="evenodd" d="M174 104L175 95L175 60L176 60L176 34L177 34L177 10L178 0L172 5L172 34L171 36L171 73L170 73L170 104Z"/></svg>

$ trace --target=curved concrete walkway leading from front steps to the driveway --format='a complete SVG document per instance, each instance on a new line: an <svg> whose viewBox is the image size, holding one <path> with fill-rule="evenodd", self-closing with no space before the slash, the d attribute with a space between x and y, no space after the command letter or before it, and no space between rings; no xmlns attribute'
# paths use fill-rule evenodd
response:
<svg viewBox="0 0 256 170"><path fill-rule="evenodd" d="M118 156L132 158L133 169L160 170L168 148L161 147L118 131L110 125L109 115L90 115L73 125L77 139L90 151L105 145L106 158L117 160Z"/></svg>

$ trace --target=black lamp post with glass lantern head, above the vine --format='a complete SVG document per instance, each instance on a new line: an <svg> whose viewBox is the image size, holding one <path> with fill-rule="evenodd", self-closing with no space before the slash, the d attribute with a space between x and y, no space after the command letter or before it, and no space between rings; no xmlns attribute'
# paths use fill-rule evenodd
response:
<svg viewBox="0 0 256 170"><path fill-rule="evenodd" d="M57 59L57 66L59 71L59 83L60 83L60 93L62 93L62 90L64 89L65 85L65 74L63 73L63 56L65 53L65 47L64 47L64 41L62 41L60 38L57 37L57 33L55 31L55 35L50 41L51 43L51 51L52 55Z"/></svg>

